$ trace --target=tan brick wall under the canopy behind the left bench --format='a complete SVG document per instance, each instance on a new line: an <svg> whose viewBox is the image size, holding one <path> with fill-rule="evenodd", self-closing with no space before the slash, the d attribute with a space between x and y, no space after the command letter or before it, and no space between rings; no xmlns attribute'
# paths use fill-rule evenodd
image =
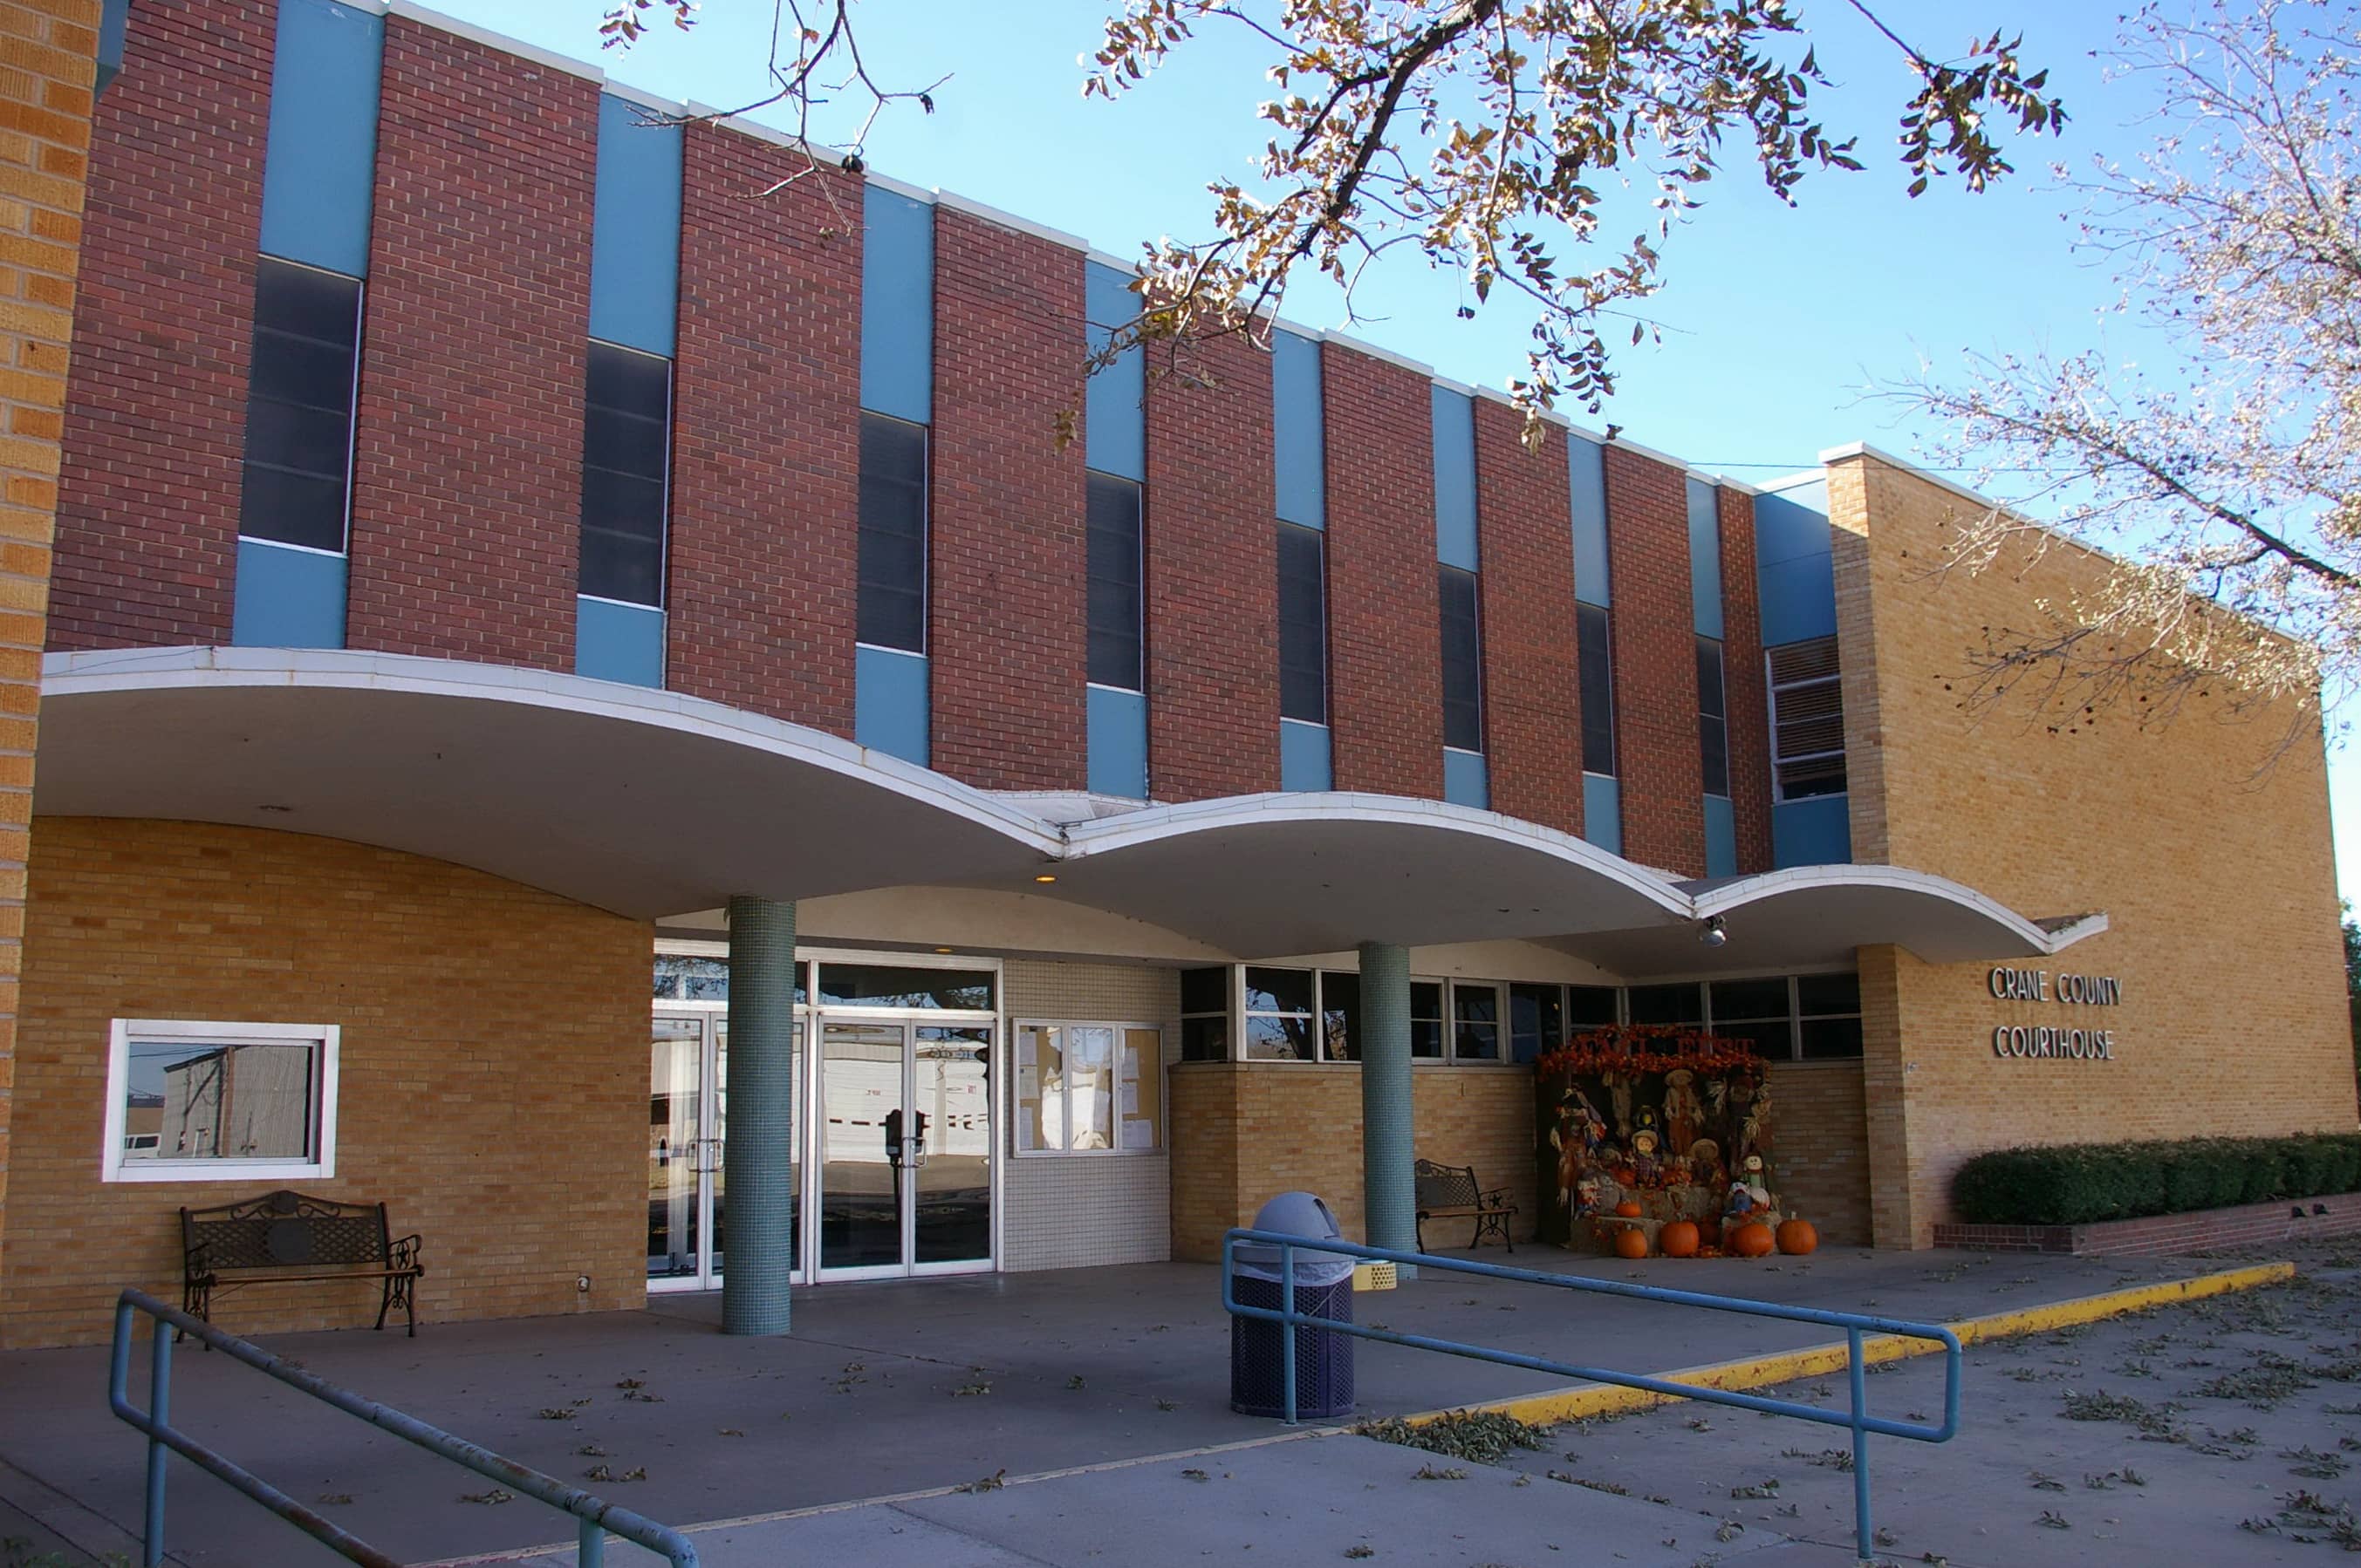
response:
<svg viewBox="0 0 2361 1568"><path fill-rule="evenodd" d="M0 1346L104 1339L125 1285L177 1299L175 1211L276 1181L99 1183L113 1018L342 1025L335 1178L425 1235L423 1320L645 1299L652 933L333 838L42 817ZM574 1278L588 1273L590 1292ZM368 1325L359 1285L222 1296L229 1329Z"/></svg>

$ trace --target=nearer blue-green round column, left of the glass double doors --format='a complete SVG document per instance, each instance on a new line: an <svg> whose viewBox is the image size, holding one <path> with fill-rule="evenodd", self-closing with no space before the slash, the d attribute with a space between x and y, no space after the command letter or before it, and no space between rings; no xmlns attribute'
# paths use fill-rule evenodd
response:
<svg viewBox="0 0 2361 1568"><path fill-rule="evenodd" d="M722 1332L784 1334L796 1268L796 904L730 900L730 1254Z"/></svg>

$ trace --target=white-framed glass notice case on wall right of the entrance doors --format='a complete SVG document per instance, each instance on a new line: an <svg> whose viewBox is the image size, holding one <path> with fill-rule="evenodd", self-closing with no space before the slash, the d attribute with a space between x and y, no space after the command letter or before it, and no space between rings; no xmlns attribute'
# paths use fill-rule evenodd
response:
<svg viewBox="0 0 2361 1568"><path fill-rule="evenodd" d="M1164 1046L1143 1023L1020 1023L1018 1152L1164 1148Z"/></svg>

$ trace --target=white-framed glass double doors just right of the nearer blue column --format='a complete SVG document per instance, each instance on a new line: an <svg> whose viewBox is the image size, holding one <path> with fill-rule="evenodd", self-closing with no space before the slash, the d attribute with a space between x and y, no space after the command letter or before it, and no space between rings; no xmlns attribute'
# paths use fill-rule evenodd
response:
<svg viewBox="0 0 2361 1568"><path fill-rule="evenodd" d="M992 1268L992 1025L822 1020L819 1273Z"/></svg>

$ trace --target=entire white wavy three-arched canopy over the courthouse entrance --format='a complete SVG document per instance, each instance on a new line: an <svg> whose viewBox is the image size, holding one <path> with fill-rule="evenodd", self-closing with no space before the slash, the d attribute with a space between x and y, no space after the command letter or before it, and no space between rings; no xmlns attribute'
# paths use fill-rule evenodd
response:
<svg viewBox="0 0 2361 1568"><path fill-rule="evenodd" d="M40 723L42 815L323 834L635 919L732 893L999 888L1240 959L1535 940L1629 978L1768 973L1877 942L1938 963L2047 956L2106 923L2042 926L1898 867L1676 883L1443 801L994 796L739 708L451 659L52 654ZM1698 940L1709 916L1721 947Z"/></svg>

